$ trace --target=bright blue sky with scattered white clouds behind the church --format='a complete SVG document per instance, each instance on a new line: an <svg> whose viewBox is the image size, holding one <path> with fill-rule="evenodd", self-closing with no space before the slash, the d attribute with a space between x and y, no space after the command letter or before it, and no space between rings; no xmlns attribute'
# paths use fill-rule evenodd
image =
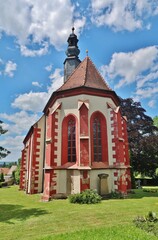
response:
<svg viewBox="0 0 158 240"><path fill-rule="evenodd" d="M0 0L0 146L21 157L23 139L63 83L72 26L88 56L122 98L158 115L158 0Z"/></svg>

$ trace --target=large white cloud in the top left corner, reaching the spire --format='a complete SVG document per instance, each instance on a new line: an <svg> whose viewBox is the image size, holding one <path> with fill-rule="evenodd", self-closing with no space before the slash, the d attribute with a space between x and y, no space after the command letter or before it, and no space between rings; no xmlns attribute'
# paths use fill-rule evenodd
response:
<svg viewBox="0 0 158 240"><path fill-rule="evenodd" d="M1 1L0 33L15 36L24 56L41 56L48 51L44 42L56 49L65 44L74 14L75 7L70 0ZM74 23L77 33L84 24L85 18L78 16ZM34 44L39 48L34 49Z"/></svg>

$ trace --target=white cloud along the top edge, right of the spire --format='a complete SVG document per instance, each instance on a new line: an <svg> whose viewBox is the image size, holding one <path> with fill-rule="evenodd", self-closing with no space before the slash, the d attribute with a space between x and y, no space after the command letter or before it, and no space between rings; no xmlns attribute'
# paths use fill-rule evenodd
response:
<svg viewBox="0 0 158 240"><path fill-rule="evenodd" d="M141 29L148 17L158 14L155 0L123 0L121 4L116 0L91 0L91 8L94 24L106 25L115 31Z"/></svg>

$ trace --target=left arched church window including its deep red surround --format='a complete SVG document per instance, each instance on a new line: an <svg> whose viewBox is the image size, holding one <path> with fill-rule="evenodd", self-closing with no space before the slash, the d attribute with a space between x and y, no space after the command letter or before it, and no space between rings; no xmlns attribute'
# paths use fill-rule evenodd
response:
<svg viewBox="0 0 158 240"><path fill-rule="evenodd" d="M62 123L62 158L61 164L77 161L76 118L68 115Z"/></svg>

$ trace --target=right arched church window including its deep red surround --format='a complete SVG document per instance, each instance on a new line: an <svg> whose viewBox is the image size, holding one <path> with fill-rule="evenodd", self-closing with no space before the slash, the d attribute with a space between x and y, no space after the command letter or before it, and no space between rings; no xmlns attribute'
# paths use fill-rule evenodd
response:
<svg viewBox="0 0 158 240"><path fill-rule="evenodd" d="M91 116L91 159L92 162L108 163L106 119L98 111Z"/></svg>

